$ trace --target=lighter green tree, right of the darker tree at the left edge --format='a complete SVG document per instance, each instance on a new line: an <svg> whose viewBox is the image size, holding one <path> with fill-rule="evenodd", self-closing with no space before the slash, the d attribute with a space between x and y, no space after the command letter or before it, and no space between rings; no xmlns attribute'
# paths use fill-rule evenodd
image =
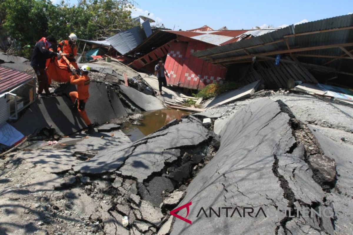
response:
<svg viewBox="0 0 353 235"><path fill-rule="evenodd" d="M70 32L85 39L108 37L138 25L130 6L132 1L126 0L82 0L73 6L62 1L50 17L49 31L62 39Z"/></svg>

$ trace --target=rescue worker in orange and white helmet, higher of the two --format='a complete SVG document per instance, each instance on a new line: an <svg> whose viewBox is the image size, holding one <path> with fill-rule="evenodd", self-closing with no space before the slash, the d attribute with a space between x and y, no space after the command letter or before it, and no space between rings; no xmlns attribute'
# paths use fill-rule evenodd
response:
<svg viewBox="0 0 353 235"><path fill-rule="evenodd" d="M60 55L64 55L68 61L78 69L77 63L76 63L76 56L77 56L77 36L74 33L71 33L68 36L68 40L62 40L61 42L58 43L58 52ZM62 54L61 54L62 53ZM61 63L66 64L63 58L60 60Z"/></svg>

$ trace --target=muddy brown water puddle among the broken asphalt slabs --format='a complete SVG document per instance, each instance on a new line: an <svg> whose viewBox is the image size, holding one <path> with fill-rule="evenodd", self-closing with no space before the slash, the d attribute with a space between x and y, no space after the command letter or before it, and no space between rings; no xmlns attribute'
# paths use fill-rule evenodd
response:
<svg viewBox="0 0 353 235"><path fill-rule="evenodd" d="M138 122L141 125L133 125L131 122L124 123L122 131L131 141L137 141L165 126L173 119L180 119L189 115L189 112L176 109L161 109L141 113L144 117Z"/></svg>

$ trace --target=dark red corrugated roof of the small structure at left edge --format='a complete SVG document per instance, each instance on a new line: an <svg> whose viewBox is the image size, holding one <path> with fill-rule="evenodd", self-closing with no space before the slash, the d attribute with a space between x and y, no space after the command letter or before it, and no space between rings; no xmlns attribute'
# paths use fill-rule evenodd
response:
<svg viewBox="0 0 353 235"><path fill-rule="evenodd" d="M31 80L32 78L33 75L0 66L0 93L9 91L11 88Z"/></svg>

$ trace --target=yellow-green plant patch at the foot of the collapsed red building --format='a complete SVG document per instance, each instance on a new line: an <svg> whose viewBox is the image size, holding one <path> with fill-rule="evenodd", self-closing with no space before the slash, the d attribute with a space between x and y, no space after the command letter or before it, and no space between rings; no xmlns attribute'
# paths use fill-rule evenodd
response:
<svg viewBox="0 0 353 235"><path fill-rule="evenodd" d="M215 97L219 94L222 94L223 92L238 89L243 86L244 86L244 84L240 84L238 82L227 82L225 84L213 83L213 84L207 85L206 87L201 89L197 94L192 94L192 96L208 99L208 98Z"/></svg>

